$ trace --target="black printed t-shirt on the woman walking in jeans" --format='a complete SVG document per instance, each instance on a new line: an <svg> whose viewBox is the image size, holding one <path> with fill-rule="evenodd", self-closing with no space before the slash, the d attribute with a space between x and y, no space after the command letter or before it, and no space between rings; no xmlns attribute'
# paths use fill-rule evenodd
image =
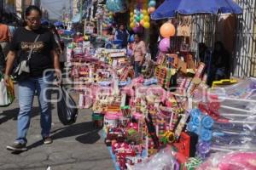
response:
<svg viewBox="0 0 256 170"><path fill-rule="evenodd" d="M50 51L57 48L53 34L43 27L37 31L28 31L25 27L20 27L15 31L9 47L11 51L18 52L18 60L25 60L38 34L40 37L34 45L29 65L31 77L42 77L46 69L53 67Z"/></svg>

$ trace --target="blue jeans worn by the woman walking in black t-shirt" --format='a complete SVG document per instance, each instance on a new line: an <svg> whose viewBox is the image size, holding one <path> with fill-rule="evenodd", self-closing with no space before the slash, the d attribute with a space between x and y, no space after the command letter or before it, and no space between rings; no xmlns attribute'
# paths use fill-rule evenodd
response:
<svg viewBox="0 0 256 170"><path fill-rule="evenodd" d="M51 105L50 105L50 86L54 80L54 74L48 73L44 77L30 77L25 81L19 82L19 105L18 116L18 136L16 141L26 143L26 133L30 125L32 104L35 91L38 94L38 102L41 111L41 134L42 137L49 136L51 128Z"/></svg>

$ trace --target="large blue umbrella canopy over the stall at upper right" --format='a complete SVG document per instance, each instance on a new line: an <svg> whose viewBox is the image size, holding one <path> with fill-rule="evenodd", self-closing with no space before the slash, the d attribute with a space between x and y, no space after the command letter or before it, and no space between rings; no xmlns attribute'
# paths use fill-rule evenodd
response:
<svg viewBox="0 0 256 170"><path fill-rule="evenodd" d="M174 18L177 14L242 14L233 0L166 0L151 14L152 20Z"/></svg>

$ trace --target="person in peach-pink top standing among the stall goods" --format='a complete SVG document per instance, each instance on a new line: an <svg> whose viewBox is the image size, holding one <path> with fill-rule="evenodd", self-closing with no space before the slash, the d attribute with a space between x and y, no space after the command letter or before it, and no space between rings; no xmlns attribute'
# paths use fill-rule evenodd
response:
<svg viewBox="0 0 256 170"><path fill-rule="evenodd" d="M143 63L147 54L145 42L143 42L140 34L134 35L133 58L135 77L139 77L142 73Z"/></svg>

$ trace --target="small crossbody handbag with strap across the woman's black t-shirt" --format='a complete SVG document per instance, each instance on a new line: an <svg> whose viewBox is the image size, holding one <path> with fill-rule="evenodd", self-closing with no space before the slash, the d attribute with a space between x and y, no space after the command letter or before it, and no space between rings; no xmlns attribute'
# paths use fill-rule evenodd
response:
<svg viewBox="0 0 256 170"><path fill-rule="evenodd" d="M21 60L20 63L15 68L15 71L13 73L13 77L15 78L15 81L20 82L30 76L29 60L31 59L35 42L38 41L39 37L40 37L40 35L38 35L36 37L35 41L33 42L32 48L31 48L29 54L27 55L27 59Z"/></svg>

